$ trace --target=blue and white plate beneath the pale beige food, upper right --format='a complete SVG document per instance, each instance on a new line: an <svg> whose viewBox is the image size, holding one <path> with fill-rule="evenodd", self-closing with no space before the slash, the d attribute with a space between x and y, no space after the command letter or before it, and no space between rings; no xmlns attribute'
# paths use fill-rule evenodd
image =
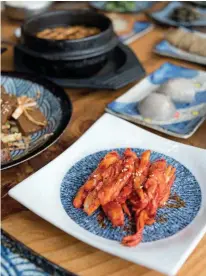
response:
<svg viewBox="0 0 206 276"><path fill-rule="evenodd" d="M184 28L184 30L186 30L186 29ZM192 32L189 29L187 29L187 31ZM198 32L198 34L200 36L205 37L205 39L206 39L206 34L199 33L199 32ZM181 49L173 46L172 44L170 44L167 40L162 40L160 43L158 43L155 46L153 51L162 56L178 58L178 59L187 60L187 61L206 65L206 57L199 56L199 55L192 54L187 51L181 50Z"/></svg>

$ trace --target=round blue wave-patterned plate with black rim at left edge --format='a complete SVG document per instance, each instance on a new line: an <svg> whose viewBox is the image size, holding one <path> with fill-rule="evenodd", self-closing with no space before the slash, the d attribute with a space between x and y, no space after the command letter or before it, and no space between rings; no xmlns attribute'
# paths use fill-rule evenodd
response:
<svg viewBox="0 0 206 276"><path fill-rule="evenodd" d="M16 96L35 97L40 92L37 103L48 121L48 125L44 129L30 136L31 142L27 150L11 151L11 160L1 165L1 169L6 169L36 156L53 144L70 121L72 105L61 87L42 78L3 72L1 85L7 93Z"/></svg>

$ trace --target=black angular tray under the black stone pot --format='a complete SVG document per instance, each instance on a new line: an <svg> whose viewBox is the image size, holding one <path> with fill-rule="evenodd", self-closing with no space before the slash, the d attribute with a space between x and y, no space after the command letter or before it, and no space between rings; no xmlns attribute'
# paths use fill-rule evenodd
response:
<svg viewBox="0 0 206 276"><path fill-rule="evenodd" d="M23 63L22 50L17 46L14 49L14 66L18 72L34 73ZM108 62L94 76L90 78L54 78L44 76L58 85L67 88L94 88L119 89L145 76L145 70L132 50L119 43L110 53Z"/></svg>

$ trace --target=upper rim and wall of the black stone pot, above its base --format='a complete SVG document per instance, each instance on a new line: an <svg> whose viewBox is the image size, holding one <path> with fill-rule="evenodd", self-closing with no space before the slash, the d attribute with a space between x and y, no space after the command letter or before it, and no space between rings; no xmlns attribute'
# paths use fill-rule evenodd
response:
<svg viewBox="0 0 206 276"><path fill-rule="evenodd" d="M46 28L74 25L97 27L101 32L94 36L75 40L43 39L35 35ZM38 52L41 57L50 59L64 56L74 60L80 59L80 57L94 57L109 52L118 43L111 20L102 14L87 10L47 12L27 20L21 29L21 43Z"/></svg>

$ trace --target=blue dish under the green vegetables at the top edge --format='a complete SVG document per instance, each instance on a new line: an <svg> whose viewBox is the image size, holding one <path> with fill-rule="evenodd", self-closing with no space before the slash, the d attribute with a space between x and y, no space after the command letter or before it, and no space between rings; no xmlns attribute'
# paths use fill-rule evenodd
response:
<svg viewBox="0 0 206 276"><path fill-rule="evenodd" d="M112 3L111 3L112 2ZM121 1L117 1L121 2ZM125 1L129 2L129 1ZM149 1L130 1L133 2L129 4L126 9L121 9L119 5L115 4L115 1L90 1L89 4L92 8L103 10L103 11L110 11L110 12L121 12L121 13L137 13L142 12L143 10L149 9L152 7L154 2ZM127 5L128 5L127 4Z"/></svg>

